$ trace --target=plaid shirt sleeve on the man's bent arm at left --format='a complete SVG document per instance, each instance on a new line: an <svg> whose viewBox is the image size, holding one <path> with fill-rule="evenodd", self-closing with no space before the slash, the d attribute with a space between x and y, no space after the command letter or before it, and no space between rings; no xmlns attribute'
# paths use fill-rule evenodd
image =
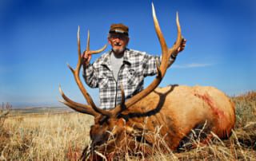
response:
<svg viewBox="0 0 256 161"><path fill-rule="evenodd" d="M86 81L86 84L90 86L90 88L98 88L98 74L96 69L94 69L94 65L83 66L82 77Z"/></svg>

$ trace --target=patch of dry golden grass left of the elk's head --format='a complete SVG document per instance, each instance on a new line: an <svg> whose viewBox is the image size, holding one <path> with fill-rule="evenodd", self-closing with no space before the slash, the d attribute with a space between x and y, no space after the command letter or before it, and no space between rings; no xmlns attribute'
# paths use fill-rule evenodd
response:
<svg viewBox="0 0 256 161"><path fill-rule="evenodd" d="M3 155L7 160L78 159L90 142L90 124L90 116L78 113L10 117L4 127L10 140Z"/></svg>

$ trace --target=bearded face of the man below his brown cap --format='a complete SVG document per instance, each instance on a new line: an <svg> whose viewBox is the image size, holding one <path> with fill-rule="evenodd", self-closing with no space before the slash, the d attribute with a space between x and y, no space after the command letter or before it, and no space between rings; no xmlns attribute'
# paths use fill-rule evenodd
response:
<svg viewBox="0 0 256 161"><path fill-rule="evenodd" d="M108 42L112 46L114 53L123 53L129 42L129 37L124 34L110 33Z"/></svg>

